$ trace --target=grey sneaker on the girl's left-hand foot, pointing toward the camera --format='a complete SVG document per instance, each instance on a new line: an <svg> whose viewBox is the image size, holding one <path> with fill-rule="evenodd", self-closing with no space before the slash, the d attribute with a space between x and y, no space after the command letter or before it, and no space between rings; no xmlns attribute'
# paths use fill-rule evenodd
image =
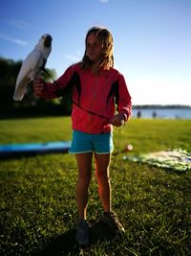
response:
<svg viewBox="0 0 191 256"><path fill-rule="evenodd" d="M89 244L89 224L86 220L78 221L75 239L79 246L87 246Z"/></svg>

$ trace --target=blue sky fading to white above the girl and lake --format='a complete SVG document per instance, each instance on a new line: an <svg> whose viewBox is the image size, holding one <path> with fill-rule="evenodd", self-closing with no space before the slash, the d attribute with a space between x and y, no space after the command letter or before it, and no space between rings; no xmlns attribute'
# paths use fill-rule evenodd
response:
<svg viewBox="0 0 191 256"><path fill-rule="evenodd" d="M0 0L0 57L20 60L53 35L47 67L59 77L97 25L114 36L115 67L134 105L191 105L190 0Z"/></svg>

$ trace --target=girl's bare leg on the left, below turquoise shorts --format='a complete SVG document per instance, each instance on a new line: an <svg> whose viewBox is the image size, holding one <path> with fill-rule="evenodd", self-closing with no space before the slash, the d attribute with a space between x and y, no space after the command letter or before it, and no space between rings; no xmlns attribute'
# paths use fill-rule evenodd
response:
<svg viewBox="0 0 191 256"><path fill-rule="evenodd" d="M92 176L93 152L77 153L78 179L76 184L76 202L79 220L86 219L88 205L88 188Z"/></svg>

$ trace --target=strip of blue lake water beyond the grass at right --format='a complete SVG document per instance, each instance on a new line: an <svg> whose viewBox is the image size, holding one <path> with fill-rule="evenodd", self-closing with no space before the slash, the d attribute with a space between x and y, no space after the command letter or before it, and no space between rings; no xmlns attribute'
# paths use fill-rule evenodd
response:
<svg viewBox="0 0 191 256"><path fill-rule="evenodd" d="M191 119L191 107L189 108L133 108L133 117L161 118L161 119Z"/></svg>

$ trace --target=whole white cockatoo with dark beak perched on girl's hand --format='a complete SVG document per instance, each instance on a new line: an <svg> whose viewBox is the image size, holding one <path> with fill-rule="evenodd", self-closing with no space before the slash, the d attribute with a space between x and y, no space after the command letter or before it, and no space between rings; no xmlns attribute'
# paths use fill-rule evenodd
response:
<svg viewBox="0 0 191 256"><path fill-rule="evenodd" d="M40 76L45 68L47 58L52 50L52 36L42 35L35 45L33 51L23 60L21 69L16 79L16 85L13 94L14 101L22 101L29 82Z"/></svg>

